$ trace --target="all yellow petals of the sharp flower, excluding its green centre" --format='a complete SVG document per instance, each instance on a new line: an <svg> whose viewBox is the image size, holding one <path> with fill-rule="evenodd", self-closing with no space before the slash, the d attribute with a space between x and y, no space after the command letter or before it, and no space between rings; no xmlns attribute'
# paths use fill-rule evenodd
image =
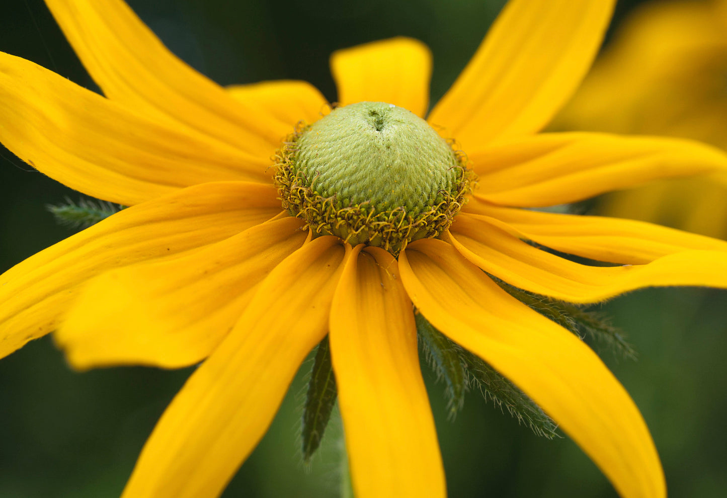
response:
<svg viewBox="0 0 727 498"><path fill-rule="evenodd" d="M723 241L521 209L727 170L727 156L687 140L537 133L586 73L612 2L510 1L428 115L431 57L419 42L333 55L341 105L426 116L479 177L451 228L403 241L398 258L313 238L281 209L270 157L298 121L321 119L316 89L222 89L120 0L47 4L105 97L1 55L0 140L65 185L130 207L4 273L0 353L57 329L81 369L202 361L125 497L219 495L326 334L356 496L444 496L412 304L542 406L619 494L664 497L654 443L624 388L577 337L488 275L570 302L644 286L727 287ZM529 241L617 265L582 265Z"/></svg>

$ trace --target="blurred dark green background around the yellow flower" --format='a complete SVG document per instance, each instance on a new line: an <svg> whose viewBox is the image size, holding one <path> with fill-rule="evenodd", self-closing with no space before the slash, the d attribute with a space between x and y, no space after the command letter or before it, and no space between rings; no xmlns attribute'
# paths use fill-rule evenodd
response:
<svg viewBox="0 0 727 498"><path fill-rule="evenodd" d="M129 3L168 47L220 84L305 79L332 101L333 50L413 36L433 50L436 101L504 2ZM620 2L614 25L636 3ZM41 1L1 5L1 51L95 89ZM0 155L0 270L5 270L71 235L45 206L80 195L7 150L0 148ZM602 308L640 353L635 362L619 361L608 351L602 356L651 428L671 496L725 496L727 292L649 289ZM68 369L48 337L0 361L0 498L119 496L145 438L190 372L129 367L80 374ZM428 372L425 377L450 497L616 496L568 438L538 438L479 393L470 393L457 419L448 420L443 386ZM337 496L340 430L329 434L310 472L300 459L304 387L299 374L273 427L224 497Z"/></svg>

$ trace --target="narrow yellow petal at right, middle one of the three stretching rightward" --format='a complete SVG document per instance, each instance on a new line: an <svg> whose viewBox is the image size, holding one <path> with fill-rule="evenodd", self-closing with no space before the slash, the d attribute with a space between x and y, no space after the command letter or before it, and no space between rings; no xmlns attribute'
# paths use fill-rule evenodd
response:
<svg viewBox="0 0 727 498"><path fill-rule="evenodd" d="M464 211L518 238L597 261L640 265L690 249L727 251L725 241L639 221L499 207L476 199Z"/></svg>

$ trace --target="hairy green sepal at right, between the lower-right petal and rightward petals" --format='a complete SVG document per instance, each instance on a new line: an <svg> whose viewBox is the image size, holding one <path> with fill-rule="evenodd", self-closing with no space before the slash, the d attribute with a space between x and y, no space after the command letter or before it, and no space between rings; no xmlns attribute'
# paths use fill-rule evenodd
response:
<svg viewBox="0 0 727 498"><path fill-rule="evenodd" d="M492 276L491 276L492 277ZM576 334L581 339L590 337L618 353L624 358L635 359L636 352L626 341L624 333L612 326L608 318L582 305L563 302L547 296L518 289L499 278L492 279L516 300L550 318L556 324Z"/></svg>

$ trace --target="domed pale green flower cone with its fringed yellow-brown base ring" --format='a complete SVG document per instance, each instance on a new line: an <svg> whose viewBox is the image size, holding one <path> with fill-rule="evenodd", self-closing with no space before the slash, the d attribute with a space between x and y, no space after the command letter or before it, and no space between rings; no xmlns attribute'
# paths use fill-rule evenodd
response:
<svg viewBox="0 0 727 498"><path fill-rule="evenodd" d="M426 121L381 102L300 126L278 158L276 185L292 216L316 234L393 254L449 228L473 177Z"/></svg>

